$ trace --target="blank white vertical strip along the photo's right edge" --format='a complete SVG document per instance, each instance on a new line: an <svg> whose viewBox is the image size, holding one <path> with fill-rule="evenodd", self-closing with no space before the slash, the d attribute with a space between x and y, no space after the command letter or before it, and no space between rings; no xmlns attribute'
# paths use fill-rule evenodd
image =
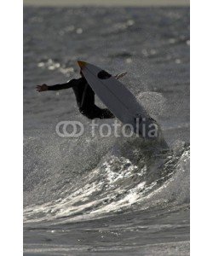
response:
<svg viewBox="0 0 213 256"><path fill-rule="evenodd" d="M212 3L191 3L191 255L212 253Z"/></svg>

